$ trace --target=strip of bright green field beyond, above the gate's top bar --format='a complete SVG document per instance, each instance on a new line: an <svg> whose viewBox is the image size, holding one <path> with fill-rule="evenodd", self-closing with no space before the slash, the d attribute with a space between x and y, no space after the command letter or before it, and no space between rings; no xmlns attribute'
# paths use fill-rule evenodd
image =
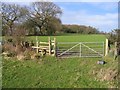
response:
<svg viewBox="0 0 120 90"><path fill-rule="evenodd" d="M39 41L48 41L49 36L37 36ZM54 37L57 39L57 42L103 42L105 41L104 35L80 35L80 34L68 34L61 36L50 36L51 39ZM29 40L36 40L35 36L28 37Z"/></svg>

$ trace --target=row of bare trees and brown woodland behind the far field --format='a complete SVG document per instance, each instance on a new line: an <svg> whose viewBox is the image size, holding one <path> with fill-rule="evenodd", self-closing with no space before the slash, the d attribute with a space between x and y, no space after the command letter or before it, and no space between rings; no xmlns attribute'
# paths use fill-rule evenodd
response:
<svg viewBox="0 0 120 90"><path fill-rule="evenodd" d="M2 3L3 35L55 35L57 33L100 33L84 25L63 25L62 10L53 2L32 2L30 6Z"/></svg>

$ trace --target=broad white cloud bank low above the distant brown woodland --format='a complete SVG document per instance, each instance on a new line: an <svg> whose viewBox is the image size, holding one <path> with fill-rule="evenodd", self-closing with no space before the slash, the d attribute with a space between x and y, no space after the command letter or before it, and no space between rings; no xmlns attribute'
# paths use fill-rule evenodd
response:
<svg viewBox="0 0 120 90"><path fill-rule="evenodd" d="M118 14L105 13L102 15L88 14L86 11L65 11L62 16L63 24L79 24L99 28L108 32L118 27Z"/></svg>

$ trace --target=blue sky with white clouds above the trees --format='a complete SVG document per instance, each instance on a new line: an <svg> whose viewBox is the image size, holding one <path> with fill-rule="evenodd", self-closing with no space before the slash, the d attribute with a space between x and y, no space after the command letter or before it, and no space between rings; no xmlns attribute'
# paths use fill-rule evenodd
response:
<svg viewBox="0 0 120 90"><path fill-rule="evenodd" d="M17 4L21 5L29 5L29 3L34 0L21 0L20 2L17 0L9 0L9 2L10 1L17 2ZM63 24L93 26L104 32L110 32L118 28L118 0L53 1L61 7L63 11L61 16ZM6 0L6 2L8 2L8 0Z"/></svg>

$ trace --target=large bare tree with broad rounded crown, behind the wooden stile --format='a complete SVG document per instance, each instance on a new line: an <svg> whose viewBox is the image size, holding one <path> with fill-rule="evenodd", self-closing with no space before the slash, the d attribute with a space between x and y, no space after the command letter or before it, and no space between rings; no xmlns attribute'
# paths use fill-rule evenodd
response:
<svg viewBox="0 0 120 90"><path fill-rule="evenodd" d="M33 2L31 7L29 19L39 28L41 35L44 34L47 24L62 14L60 7L53 2Z"/></svg>

